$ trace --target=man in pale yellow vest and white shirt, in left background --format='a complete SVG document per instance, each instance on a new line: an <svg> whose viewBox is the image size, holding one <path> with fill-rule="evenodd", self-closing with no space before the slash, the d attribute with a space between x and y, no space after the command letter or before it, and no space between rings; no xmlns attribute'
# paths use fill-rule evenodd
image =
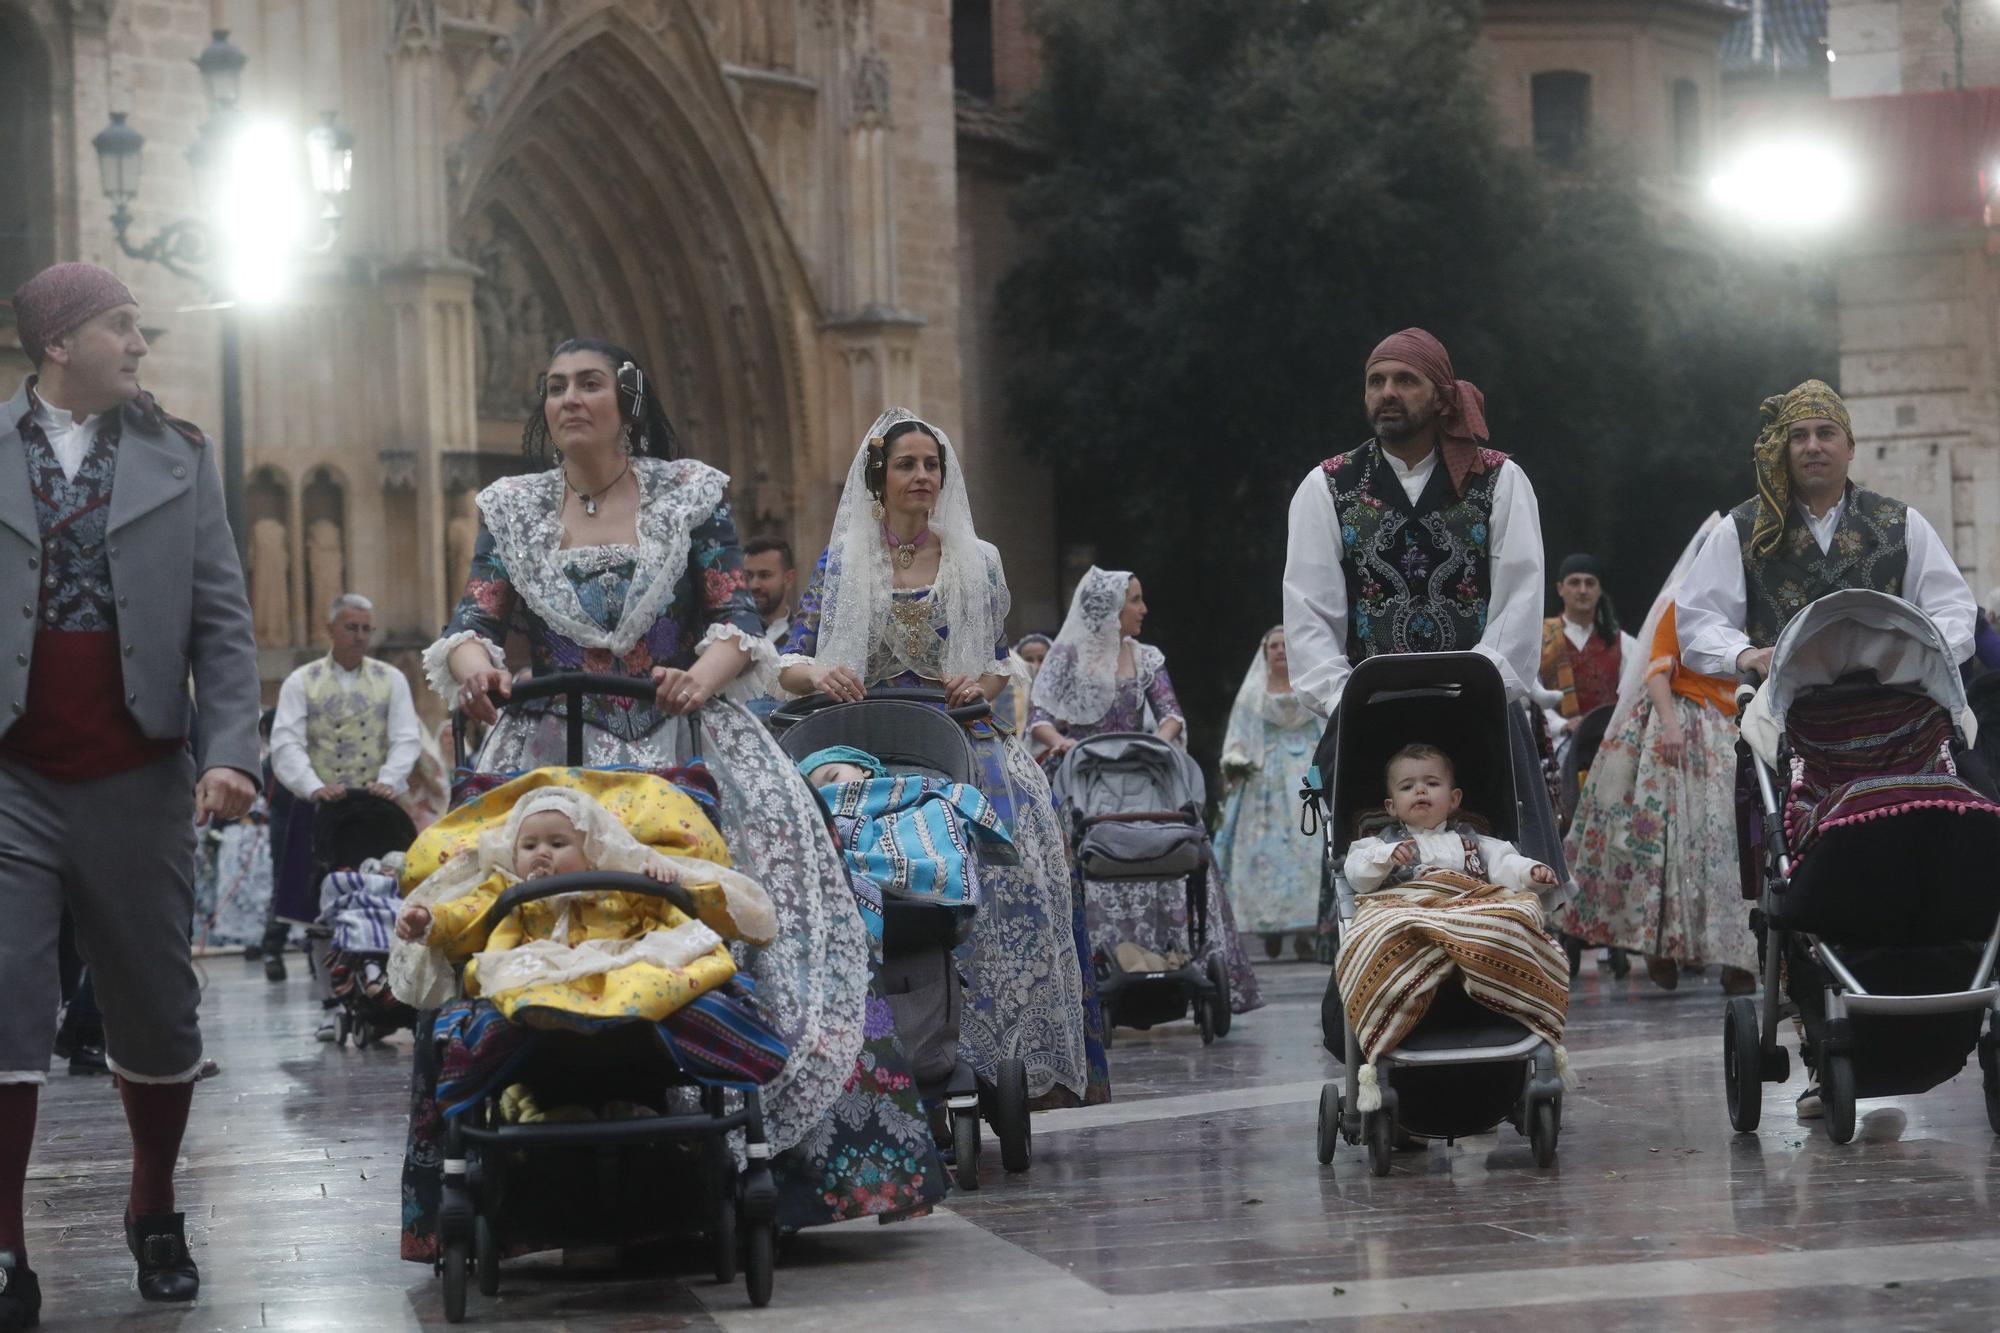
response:
<svg viewBox="0 0 2000 1333"><path fill-rule="evenodd" d="M336 596L326 626L332 650L284 679L270 727L272 775L294 797L274 847L272 931L264 953L264 975L272 981L284 981L280 931L320 915L320 885L312 877L314 809L346 801L350 793L396 799L424 753L410 681L368 656L374 602L356 592ZM332 1019L320 1035L332 1041Z"/></svg>

